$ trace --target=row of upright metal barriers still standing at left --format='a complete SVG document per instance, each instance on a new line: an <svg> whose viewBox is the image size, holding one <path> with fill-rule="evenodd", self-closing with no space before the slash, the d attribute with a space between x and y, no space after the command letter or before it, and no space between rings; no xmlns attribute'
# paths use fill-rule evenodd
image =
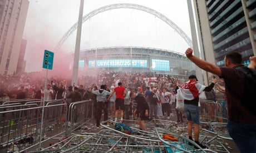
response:
<svg viewBox="0 0 256 153"><path fill-rule="evenodd" d="M41 131L42 146L48 146L45 144L48 140L60 135L70 135L86 121L93 120L92 112L88 111L93 110L92 100L71 103L69 108L63 100L51 100L45 101L42 123L42 103L42 100L29 99L12 100L11 103L0 105L0 152L38 150ZM70 121L73 124L70 126L68 116L72 116Z"/></svg>

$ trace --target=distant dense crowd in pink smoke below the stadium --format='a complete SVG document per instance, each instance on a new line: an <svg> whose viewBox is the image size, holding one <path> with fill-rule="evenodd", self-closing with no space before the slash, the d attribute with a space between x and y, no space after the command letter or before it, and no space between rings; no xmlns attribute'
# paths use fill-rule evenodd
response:
<svg viewBox="0 0 256 153"><path fill-rule="evenodd" d="M45 74L43 72L19 73L16 75L0 75L0 98L17 98L17 91L21 88L27 89L27 97L35 99L36 91L45 89ZM168 88L171 91L175 88L178 78L170 75L157 74L155 72L104 72L97 74L97 77L81 76L78 78L78 84L87 90L93 84L100 86L105 84L107 88L117 86L122 82L123 86L132 90L137 90L140 86L142 91L147 86L157 86L160 89ZM47 84L53 81L56 85L63 84L63 88L68 90L71 85L71 78L62 78L61 76L51 76L47 79ZM78 85L77 85L78 86Z"/></svg>

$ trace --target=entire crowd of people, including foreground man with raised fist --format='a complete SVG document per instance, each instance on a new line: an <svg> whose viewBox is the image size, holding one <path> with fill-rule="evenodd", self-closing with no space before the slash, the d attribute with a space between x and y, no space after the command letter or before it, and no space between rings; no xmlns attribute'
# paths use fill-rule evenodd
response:
<svg viewBox="0 0 256 153"><path fill-rule="evenodd" d="M193 55L193 50L186 50L186 56L198 65L199 68L216 74L223 80L213 79L213 83L204 86L198 83L195 75L190 75L188 81L181 83L178 77L157 74L155 72L104 72L97 77L82 76L79 79L80 86L71 85L71 79L50 77L47 79L42 72L19 73L16 75L0 75L1 99L63 99L70 104L80 100L92 100L95 105L96 126L100 126L102 111L104 120L110 117L117 121L130 118L138 118L142 130L146 130L145 120L154 118L169 119L175 110L176 95L182 95L186 120L188 121L188 136L198 146L206 146L199 143L200 115L199 98L202 93L211 95L220 91L227 101L228 131L241 152L256 151L256 116L255 103L252 91L248 91L248 74L255 77L256 57L250 57L250 64L245 68L242 64L242 55L232 52L225 55L225 67L216 67ZM247 71L247 73L244 71ZM239 80L239 84L237 81ZM252 81L253 83L253 81ZM250 88L254 89L254 88ZM255 91L255 90L254 90ZM209 92L209 93L207 93ZM206 96L205 96L206 98ZM249 98L249 99L248 99ZM251 99L250 99L251 98ZM248 105L252 106L251 108ZM91 111L91 110L88 110ZM209 110L210 112L210 110ZM211 110L213 112L213 110ZM183 122L183 114L176 109L178 122ZM197 146L195 146L197 147Z"/></svg>

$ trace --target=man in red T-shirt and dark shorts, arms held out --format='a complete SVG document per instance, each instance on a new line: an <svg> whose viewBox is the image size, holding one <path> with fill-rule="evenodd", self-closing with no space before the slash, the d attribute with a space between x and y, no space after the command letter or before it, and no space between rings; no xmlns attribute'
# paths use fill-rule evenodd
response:
<svg viewBox="0 0 256 153"><path fill-rule="evenodd" d="M116 108L116 112L115 112L115 121L117 121L117 116L120 113L120 122L122 123L123 118L124 118L124 109L125 109L125 96L127 94L126 89L124 86L122 86L122 83L119 82L117 84L118 86L112 91L112 93L109 95L109 98L107 98L107 100L109 100L111 98L111 96L116 93L116 104L115 104L115 108Z"/></svg>

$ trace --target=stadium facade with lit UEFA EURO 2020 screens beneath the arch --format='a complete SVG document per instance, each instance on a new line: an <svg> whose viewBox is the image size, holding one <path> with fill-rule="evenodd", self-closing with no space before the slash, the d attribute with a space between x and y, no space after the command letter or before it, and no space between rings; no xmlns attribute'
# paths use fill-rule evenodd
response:
<svg viewBox="0 0 256 153"><path fill-rule="evenodd" d="M156 72L188 77L195 65L184 54L171 50L144 47L106 47L80 50L80 70Z"/></svg>

